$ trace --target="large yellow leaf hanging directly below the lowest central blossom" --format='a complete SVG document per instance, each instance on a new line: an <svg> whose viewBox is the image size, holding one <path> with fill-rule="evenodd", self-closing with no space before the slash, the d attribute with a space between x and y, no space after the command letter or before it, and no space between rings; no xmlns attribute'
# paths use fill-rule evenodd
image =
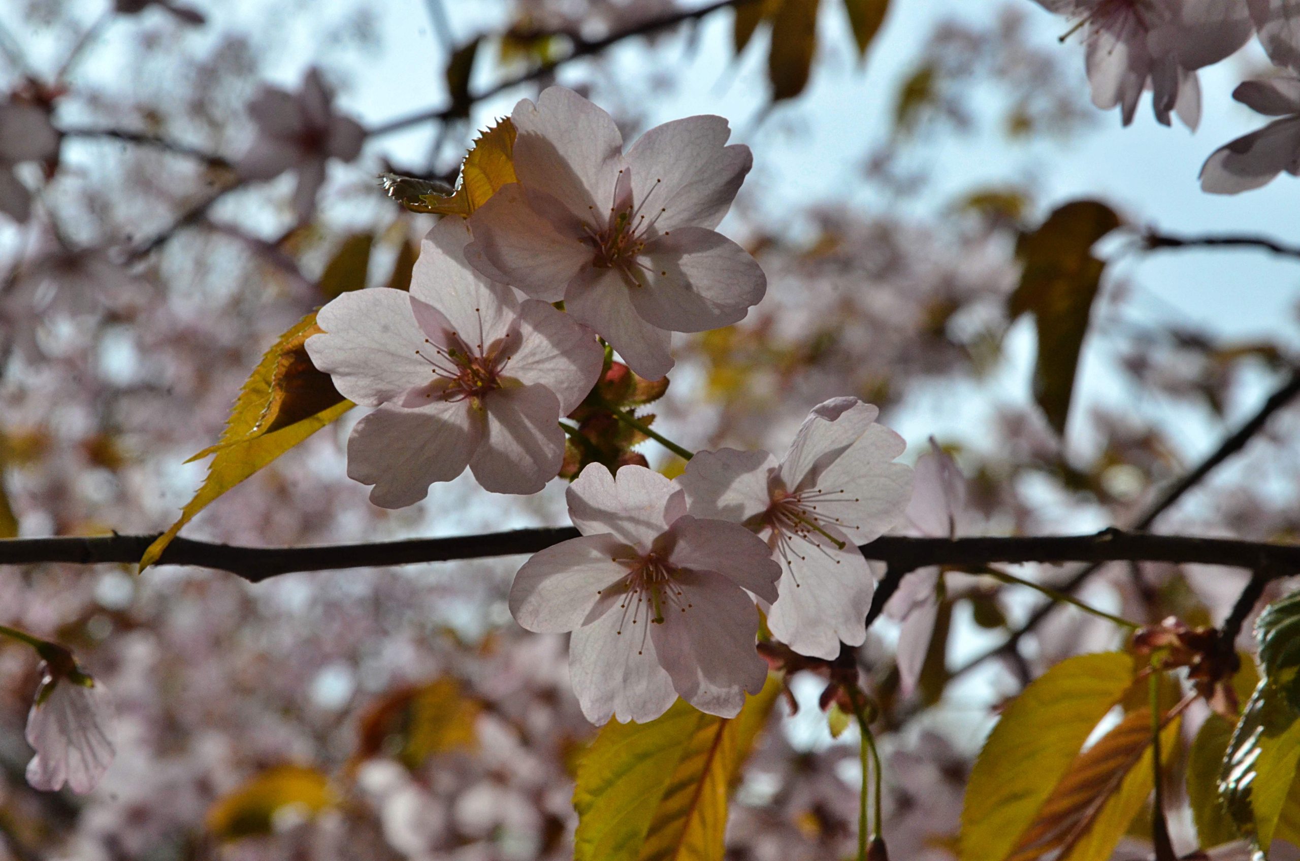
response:
<svg viewBox="0 0 1300 861"><path fill-rule="evenodd" d="M732 719L679 700L650 723L607 723L578 765L575 861L720 861L728 796L780 688L768 676Z"/></svg>

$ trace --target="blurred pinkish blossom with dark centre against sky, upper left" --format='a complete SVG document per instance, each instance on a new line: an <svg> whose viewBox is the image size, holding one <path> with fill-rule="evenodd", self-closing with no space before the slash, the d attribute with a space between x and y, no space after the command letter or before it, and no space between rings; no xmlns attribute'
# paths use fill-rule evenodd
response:
<svg viewBox="0 0 1300 861"><path fill-rule="evenodd" d="M257 138L235 169L244 179L272 179L295 170L294 211L304 221L311 217L316 192L325 182L325 164L330 159L351 161L365 139L365 129L334 113L332 101L333 94L320 70L311 69L298 95L263 87L248 105L248 114L257 124Z"/></svg>

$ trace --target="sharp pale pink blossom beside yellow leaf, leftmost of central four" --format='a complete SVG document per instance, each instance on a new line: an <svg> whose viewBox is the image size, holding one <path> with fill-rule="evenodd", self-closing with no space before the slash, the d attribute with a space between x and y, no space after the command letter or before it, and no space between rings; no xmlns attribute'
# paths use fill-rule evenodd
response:
<svg viewBox="0 0 1300 861"><path fill-rule="evenodd" d="M572 411L601 373L585 326L545 302L520 302L464 263L469 233L445 219L425 238L410 295L344 293L307 341L317 368L351 401L380 407L347 444L347 473L385 509L468 466L494 493L536 493L559 473Z"/></svg>

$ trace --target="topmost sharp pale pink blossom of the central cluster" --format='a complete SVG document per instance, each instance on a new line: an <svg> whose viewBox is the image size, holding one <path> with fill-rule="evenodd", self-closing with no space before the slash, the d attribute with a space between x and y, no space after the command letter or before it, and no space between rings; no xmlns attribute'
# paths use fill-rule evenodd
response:
<svg viewBox="0 0 1300 861"><path fill-rule="evenodd" d="M471 264L546 302L564 300L638 375L672 368L672 332L741 320L763 298L758 263L714 228L753 164L722 117L646 131L623 155L604 111L550 87L511 114L519 182L471 219Z"/></svg>

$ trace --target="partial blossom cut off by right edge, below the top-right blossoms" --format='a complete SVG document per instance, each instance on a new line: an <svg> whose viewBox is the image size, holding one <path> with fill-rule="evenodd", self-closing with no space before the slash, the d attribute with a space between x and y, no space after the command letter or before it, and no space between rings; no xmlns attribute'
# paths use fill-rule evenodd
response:
<svg viewBox="0 0 1300 861"><path fill-rule="evenodd" d="M1232 98L1282 118L1216 150L1201 168L1201 189L1238 194L1268 185L1283 170L1300 174L1300 78L1247 81Z"/></svg>

